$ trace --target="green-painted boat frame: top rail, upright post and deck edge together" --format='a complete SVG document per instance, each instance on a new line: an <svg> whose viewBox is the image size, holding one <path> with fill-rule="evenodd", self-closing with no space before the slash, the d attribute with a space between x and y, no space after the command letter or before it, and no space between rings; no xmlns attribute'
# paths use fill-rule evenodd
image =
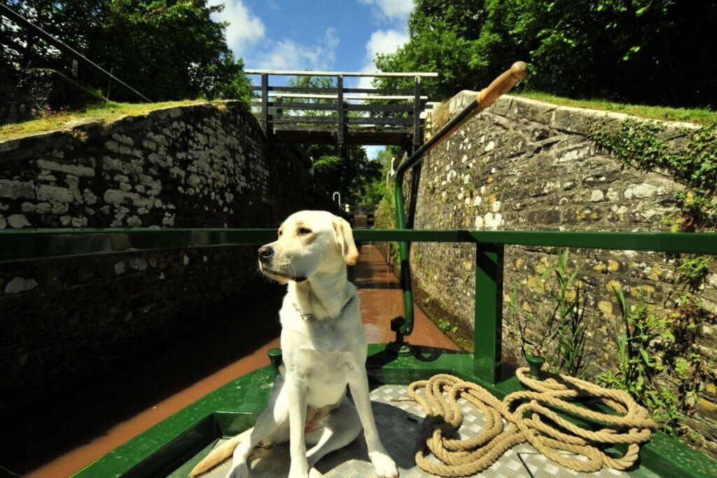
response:
<svg viewBox="0 0 717 478"><path fill-rule="evenodd" d="M0 262L81 257L167 249L263 244L275 229L34 229L0 231ZM520 388L500 374L503 311L503 247L629 249L717 255L717 234L565 231L468 231L355 229L359 241L464 242L476 247L475 348L473 354L414 346L402 357L370 345L367 367L379 383L409 383L435 373L453 373L487 387L499 398ZM406 259L406 266L408 266ZM404 291L405 292L405 291ZM405 295L404 295L405 299ZM77 476L148 476L168 472L219 436L246 429L264 406L272 379L262 368L219 388L161 424L78 472ZM717 462L655 434L643 463L673 476L717 476ZM637 472L640 470L638 469ZM639 474L639 473L638 473Z"/></svg>

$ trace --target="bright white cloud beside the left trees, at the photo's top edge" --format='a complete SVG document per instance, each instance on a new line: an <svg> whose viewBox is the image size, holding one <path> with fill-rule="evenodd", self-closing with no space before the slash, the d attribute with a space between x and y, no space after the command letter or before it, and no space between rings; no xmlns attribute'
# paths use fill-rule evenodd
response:
<svg viewBox="0 0 717 478"><path fill-rule="evenodd" d="M246 57L249 49L264 38L266 28L242 0L209 0L209 6L224 4L224 10L213 14L214 21L227 21L227 44L236 57Z"/></svg>

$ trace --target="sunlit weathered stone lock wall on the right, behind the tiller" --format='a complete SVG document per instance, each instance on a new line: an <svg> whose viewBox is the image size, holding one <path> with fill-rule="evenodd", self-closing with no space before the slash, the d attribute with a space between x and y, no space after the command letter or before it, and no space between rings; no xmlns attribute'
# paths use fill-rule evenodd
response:
<svg viewBox="0 0 717 478"><path fill-rule="evenodd" d="M474 92L451 100L456 112ZM433 148L407 185L413 190L415 229L552 229L574 231L658 231L677 212L675 193L683 186L662 173L621 165L589 140L595 128L627 115L559 107L505 96ZM693 125L666 124L673 141ZM412 201L407 192L407 200ZM407 206L412 211L412 206ZM520 365L521 344L508 300L538 315L550 313L541 273L555 257L538 247L505 248L503 359ZM571 268L581 267L587 293L587 376L613 368L617 360L619 308L613 287L628 305L644 301L657 313L674 310L675 257L669 254L571 250ZM419 297L433 301L463 330L473 330L475 247L467 244L412 245L411 264ZM701 286L700 300L717 310L717 270ZM717 329L704 324L693 350L717 362ZM713 365L712 365L713 366ZM670 377L663 378L674 386ZM698 391L695 411L683 424L696 431L695 445L717 457L717 394L713 379Z"/></svg>

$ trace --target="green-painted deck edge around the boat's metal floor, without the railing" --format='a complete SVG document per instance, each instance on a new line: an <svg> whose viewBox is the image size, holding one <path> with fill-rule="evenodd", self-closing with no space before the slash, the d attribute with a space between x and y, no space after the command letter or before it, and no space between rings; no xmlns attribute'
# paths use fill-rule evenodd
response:
<svg viewBox="0 0 717 478"><path fill-rule="evenodd" d="M521 390L515 377L496 384L472 373L470 354L433 348L412 348L412 355L397 356L385 345L369 345L366 368L371 383L410 383L452 373L484 386L502 399ZM247 373L200 398L168 419L110 451L73 475L95 477L183 476L209 453L217 439L234 436L254 424L270 395L275 369L267 366ZM596 424L579 422L581 426ZM640 451L640 467L630 471L635 477L717 476L717 462L662 433Z"/></svg>

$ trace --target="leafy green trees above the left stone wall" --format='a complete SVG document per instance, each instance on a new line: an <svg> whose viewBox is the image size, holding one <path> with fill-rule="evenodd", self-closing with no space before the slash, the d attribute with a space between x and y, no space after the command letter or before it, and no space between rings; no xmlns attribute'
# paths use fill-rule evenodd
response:
<svg viewBox="0 0 717 478"><path fill-rule="evenodd" d="M11 6L151 100L250 96L243 62L211 19L224 7L206 0L16 0ZM4 24L0 42L20 70L69 72L70 59L24 30ZM80 79L106 90L108 81L80 67ZM116 100L136 100L114 87Z"/></svg>

